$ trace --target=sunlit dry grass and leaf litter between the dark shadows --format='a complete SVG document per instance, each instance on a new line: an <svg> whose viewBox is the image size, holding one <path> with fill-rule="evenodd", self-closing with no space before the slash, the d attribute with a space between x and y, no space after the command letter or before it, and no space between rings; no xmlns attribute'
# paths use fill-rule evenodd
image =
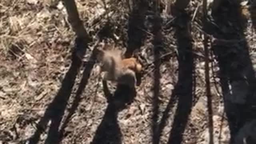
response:
<svg viewBox="0 0 256 144"><path fill-rule="evenodd" d="M120 47L127 46L130 10L126 1L107 0L105 3L106 5L102 3L102 0L76 0L80 18L92 38L92 42L89 44L90 50L85 55L86 62L83 62L83 65L89 61L92 45L99 38L102 38L102 43L111 43ZM164 7L165 2L162 2L162 5ZM194 57L195 85L192 107L189 108L191 112L188 114L188 122L182 134L182 144L204 144L208 139L202 44L204 30L202 30L201 11L202 4L198 0L192 0L188 6L188 12L189 16L193 18L191 22L193 50L191 53ZM159 68L161 76L159 78L158 123L164 115L171 96L175 97L173 90L177 87L179 72L177 54L180 54L177 50L176 28L173 25L169 26L178 17L166 16L164 12L161 16L164 18L162 25L164 48L160 52L162 59ZM145 24L150 27L150 22L147 22ZM177 23L182 27L182 21ZM255 36L250 28L252 28L251 22L248 23L245 30L245 38L250 46L250 54L254 56L255 45L252 39ZM146 31L146 35L146 40L139 53L144 58L143 65L148 66L148 69L142 78L142 84L137 87L137 96L134 102L118 112L116 118L112 116L111 111L108 112L110 104L107 103L102 92L102 84L96 74L98 68L96 64L92 69L88 84L79 98L76 111L72 114L67 126L62 129L64 136L61 144L89 144L96 138L95 135L100 134L101 136L104 132L113 132L113 135L117 137L118 134L122 134L121 141L124 144L152 143L152 125L154 125L152 124L154 113L152 105L154 103L153 88L156 69L152 51L154 37L150 30ZM0 144L22 143L34 134L36 123L44 116L46 108L62 86L62 80L71 65L74 38L74 32L68 24L66 10L62 2L57 0L0 1ZM218 38L212 40L216 39ZM164 58L166 54L170 55L167 60ZM210 60L212 61L210 68L214 71L210 71L214 109L214 140L217 144L219 133L222 131L221 143L224 144L228 141L229 130L226 118L222 123L224 107L222 98L220 98L222 96L220 80L216 78L219 68L215 57L210 57ZM254 59L252 62L255 64ZM83 71L84 66L78 71L62 122L66 120L72 104L76 101L76 91L83 77ZM175 118L174 113L178 107L177 103L178 100L175 99L170 111L167 112L169 117L164 124L160 143L168 141ZM107 116L108 114L110 116ZM105 123L104 120L106 120ZM103 129L103 133L98 132L100 126L104 124L106 128ZM112 129L111 124L114 124L116 129L109 130ZM48 130L47 127L42 133L39 143L44 143L48 136ZM118 143L118 140L116 142Z"/></svg>

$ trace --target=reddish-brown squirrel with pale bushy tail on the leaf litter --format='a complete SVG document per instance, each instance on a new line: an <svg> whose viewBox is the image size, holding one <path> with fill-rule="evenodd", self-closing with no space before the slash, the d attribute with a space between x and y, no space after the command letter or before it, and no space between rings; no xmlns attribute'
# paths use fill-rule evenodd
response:
<svg viewBox="0 0 256 144"><path fill-rule="evenodd" d="M136 85L136 73L142 71L142 65L136 58L122 58L120 50L99 50L97 59L101 63L103 80L117 82L133 88Z"/></svg>

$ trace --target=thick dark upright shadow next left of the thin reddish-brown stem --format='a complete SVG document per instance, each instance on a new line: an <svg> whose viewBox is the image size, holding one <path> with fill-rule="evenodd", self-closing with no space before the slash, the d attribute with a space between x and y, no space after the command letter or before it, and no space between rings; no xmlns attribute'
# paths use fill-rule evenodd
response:
<svg viewBox="0 0 256 144"><path fill-rule="evenodd" d="M174 94L178 98L178 106L174 114L172 130L168 144L181 144L183 132L188 122L193 99L193 72L194 58L192 54L192 37L190 33L190 17L182 12L177 17L175 36L178 41L178 83L175 86ZM175 97L174 97L175 98ZM170 99L172 102L172 98Z"/></svg>

